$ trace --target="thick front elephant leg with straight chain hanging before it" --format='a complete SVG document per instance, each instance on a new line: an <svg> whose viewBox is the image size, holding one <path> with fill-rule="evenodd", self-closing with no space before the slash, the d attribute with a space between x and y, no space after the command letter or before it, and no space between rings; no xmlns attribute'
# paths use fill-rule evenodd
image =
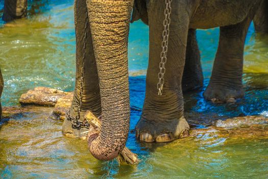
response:
<svg viewBox="0 0 268 179"><path fill-rule="evenodd" d="M164 1L150 1L148 6L150 29L149 66L146 78L146 94L142 115L136 125L136 137L144 142L169 142L188 134L189 125L183 117L182 74L185 63L189 14L187 7L173 1L170 15L166 72L162 96L158 95L157 83ZM180 8L179 8L180 7ZM180 10L180 11L179 11ZM159 14L156 17L156 14Z"/></svg>

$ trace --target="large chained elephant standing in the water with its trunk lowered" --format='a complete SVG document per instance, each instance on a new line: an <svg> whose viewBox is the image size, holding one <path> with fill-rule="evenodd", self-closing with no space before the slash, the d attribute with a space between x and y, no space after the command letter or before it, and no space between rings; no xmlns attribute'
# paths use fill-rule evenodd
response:
<svg viewBox="0 0 268 179"><path fill-rule="evenodd" d="M172 1L161 96L156 85L159 82L166 3L164 0L140 2L142 6L138 11L142 13L139 18L149 25L150 30L150 54L146 95L142 116L136 125L136 137L145 142L168 142L188 133L189 125L183 117L182 88L194 88L203 82L195 29L221 27L205 97L233 101L243 96L243 47L250 22L262 1ZM71 124L72 119L78 117L83 120L86 110L91 110L96 116L102 115L99 136L89 137L90 151L100 160L115 158L128 138L127 47L133 3L133 0L75 1L76 87L69 111L71 118L64 121L63 133L68 137L83 137L85 130L75 128Z"/></svg>

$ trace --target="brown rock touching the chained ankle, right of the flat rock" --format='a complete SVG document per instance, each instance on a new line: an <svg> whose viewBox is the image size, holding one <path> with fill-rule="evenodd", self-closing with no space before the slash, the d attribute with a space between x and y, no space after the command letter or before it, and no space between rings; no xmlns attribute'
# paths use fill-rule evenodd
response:
<svg viewBox="0 0 268 179"><path fill-rule="evenodd" d="M60 98L53 109L51 118L64 120L66 117L66 111L71 106L73 96L74 93L69 93L68 95Z"/></svg>

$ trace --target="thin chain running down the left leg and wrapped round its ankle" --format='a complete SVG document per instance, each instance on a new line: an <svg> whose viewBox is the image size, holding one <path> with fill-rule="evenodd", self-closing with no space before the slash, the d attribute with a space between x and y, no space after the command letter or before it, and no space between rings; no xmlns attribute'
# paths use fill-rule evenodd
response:
<svg viewBox="0 0 268 179"><path fill-rule="evenodd" d="M80 78L80 94L79 94L79 105L77 109L77 116L74 118L70 116L70 111L67 111L67 120L71 121L72 127L75 128L89 128L89 123L84 119L83 121L80 120L80 113L81 113L81 107L82 107L82 95L83 95L83 89L84 89L84 73L85 73L85 61L86 61L86 39L87 39L87 28L88 28L88 13L86 8L86 18L85 18L85 39L84 39L84 55L82 59L82 68L81 68L81 78Z"/></svg>

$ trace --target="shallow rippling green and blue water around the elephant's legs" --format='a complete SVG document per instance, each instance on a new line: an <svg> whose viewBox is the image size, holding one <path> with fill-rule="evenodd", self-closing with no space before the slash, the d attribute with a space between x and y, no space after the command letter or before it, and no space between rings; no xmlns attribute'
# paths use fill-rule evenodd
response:
<svg viewBox="0 0 268 179"><path fill-rule="evenodd" d="M0 9L3 7L0 0ZM0 21L0 66L5 79L2 102L17 105L35 86L72 91L75 83L73 1L30 1L28 19L4 26ZM2 12L0 12L0 16ZM215 56L218 29L198 31L205 86ZM61 134L61 121L46 119L51 108L26 113L0 124L0 178L208 178L268 177L268 140L219 137L186 138L145 145L133 129L141 114L148 65L148 27L131 25L129 70L131 129L127 146L139 155L136 167L95 160L86 143ZM246 96L236 104L212 104L204 89L185 95L185 116L192 126L245 115L268 116L268 36L250 27L245 47Z"/></svg>

